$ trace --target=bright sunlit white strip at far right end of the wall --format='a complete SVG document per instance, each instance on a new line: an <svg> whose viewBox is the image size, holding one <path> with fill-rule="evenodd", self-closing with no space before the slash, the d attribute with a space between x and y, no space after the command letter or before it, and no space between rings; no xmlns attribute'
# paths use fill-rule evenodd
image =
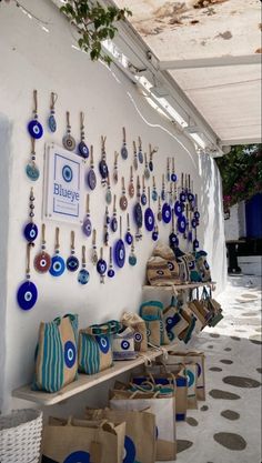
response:
<svg viewBox="0 0 262 463"><path fill-rule="evenodd" d="M200 236L200 239L203 249L210 255L213 280L220 281L220 275L223 275L221 288L216 288L218 292L221 292L226 284L222 183L219 169L214 160L209 155L199 157L199 173L203 179L201 182L199 209L201 211L202 230L204 231L204 235ZM212 234L210 234L210 230L213 231Z"/></svg>

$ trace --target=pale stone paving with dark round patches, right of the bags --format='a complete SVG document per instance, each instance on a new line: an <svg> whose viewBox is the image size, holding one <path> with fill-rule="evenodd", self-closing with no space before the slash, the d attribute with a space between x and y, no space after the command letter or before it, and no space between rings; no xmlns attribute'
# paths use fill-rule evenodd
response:
<svg viewBox="0 0 262 463"><path fill-rule="evenodd" d="M261 463L261 281L233 276L218 300L224 319L190 345L206 355L206 401L177 427L177 462Z"/></svg>

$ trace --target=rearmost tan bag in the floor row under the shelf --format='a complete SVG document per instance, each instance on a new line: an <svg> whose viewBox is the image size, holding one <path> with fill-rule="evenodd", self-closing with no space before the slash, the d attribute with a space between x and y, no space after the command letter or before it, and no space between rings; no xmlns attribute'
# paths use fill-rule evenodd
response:
<svg viewBox="0 0 262 463"><path fill-rule="evenodd" d="M183 363L185 366L188 363L195 363L196 365L196 399L199 401L205 401L205 378L204 378L204 352L199 351L178 351L170 352L169 359L173 359L177 363Z"/></svg>

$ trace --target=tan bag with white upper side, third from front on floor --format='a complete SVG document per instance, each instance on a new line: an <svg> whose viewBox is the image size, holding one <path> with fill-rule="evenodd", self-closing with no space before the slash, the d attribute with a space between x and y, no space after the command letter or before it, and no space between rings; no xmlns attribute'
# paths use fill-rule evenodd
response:
<svg viewBox="0 0 262 463"><path fill-rule="evenodd" d="M157 392L113 390L110 392L110 409L144 410L150 407L155 415L157 460L170 461L177 457L175 413L173 391Z"/></svg>

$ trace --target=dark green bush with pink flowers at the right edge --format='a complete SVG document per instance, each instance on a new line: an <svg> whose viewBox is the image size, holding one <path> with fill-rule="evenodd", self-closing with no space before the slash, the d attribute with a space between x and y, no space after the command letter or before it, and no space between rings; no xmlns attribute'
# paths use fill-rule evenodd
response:
<svg viewBox="0 0 262 463"><path fill-rule="evenodd" d="M233 147L229 154L215 161L222 177L225 212L231 205L262 192L261 144Z"/></svg>

